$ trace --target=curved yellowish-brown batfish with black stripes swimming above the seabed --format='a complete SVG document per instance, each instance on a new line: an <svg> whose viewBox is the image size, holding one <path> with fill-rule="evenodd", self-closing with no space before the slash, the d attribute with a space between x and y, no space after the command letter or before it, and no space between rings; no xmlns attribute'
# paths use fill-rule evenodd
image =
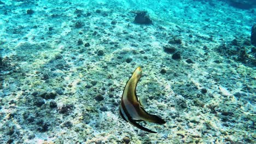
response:
<svg viewBox="0 0 256 144"><path fill-rule="evenodd" d="M142 127L139 125L138 121L147 121L152 123L164 124L166 123L163 119L156 115L150 115L146 112L141 103L139 103L138 97L136 95L136 86L141 79L142 69L138 67L132 74L131 78L127 81L124 92L121 98L120 104L120 115L126 121L134 125L135 127L148 131L149 133L156 133L150 129Z"/></svg>

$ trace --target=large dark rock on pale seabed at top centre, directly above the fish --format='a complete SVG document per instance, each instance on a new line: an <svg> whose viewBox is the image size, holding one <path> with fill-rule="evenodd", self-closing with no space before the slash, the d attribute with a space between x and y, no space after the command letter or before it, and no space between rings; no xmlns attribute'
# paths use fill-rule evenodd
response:
<svg viewBox="0 0 256 144"><path fill-rule="evenodd" d="M139 24L146 24L149 25L152 23L150 20L147 11L131 11L131 13L136 14L134 22Z"/></svg>

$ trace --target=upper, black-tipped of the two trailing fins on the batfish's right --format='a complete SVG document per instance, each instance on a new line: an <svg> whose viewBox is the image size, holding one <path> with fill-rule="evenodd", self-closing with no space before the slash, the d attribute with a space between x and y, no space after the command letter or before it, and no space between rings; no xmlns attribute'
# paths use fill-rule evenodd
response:
<svg viewBox="0 0 256 144"><path fill-rule="evenodd" d="M161 119L160 117L156 115L151 115L148 112L146 112L143 107L141 107L141 112L140 112L140 119L147 121L147 122L152 122L152 123L158 123L158 124L165 124L166 122L164 119Z"/></svg>

